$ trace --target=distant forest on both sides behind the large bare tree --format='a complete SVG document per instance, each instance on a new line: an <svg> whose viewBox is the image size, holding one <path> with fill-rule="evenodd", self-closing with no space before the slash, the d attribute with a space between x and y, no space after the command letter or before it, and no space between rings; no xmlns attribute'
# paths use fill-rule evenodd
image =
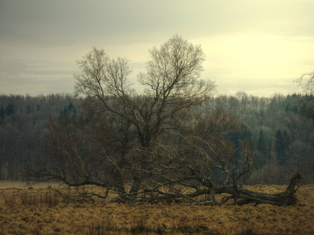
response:
<svg viewBox="0 0 314 235"><path fill-rule="evenodd" d="M314 180L314 135L311 123L302 117L304 100L300 94L257 97L237 92L219 95L202 107L210 113L217 107L241 121L241 131L230 139L248 140L255 150L254 172L247 183L284 184L289 174L302 170ZM52 119L78 119L79 104L84 99L71 94L0 95L0 180L28 180L24 166L49 156L40 143ZM45 156L46 155L46 156Z"/></svg>

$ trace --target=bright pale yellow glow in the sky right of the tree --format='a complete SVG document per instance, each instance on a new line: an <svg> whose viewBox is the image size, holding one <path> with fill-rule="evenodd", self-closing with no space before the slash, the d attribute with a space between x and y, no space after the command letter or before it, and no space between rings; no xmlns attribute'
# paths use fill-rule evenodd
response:
<svg viewBox="0 0 314 235"><path fill-rule="evenodd" d="M206 54L210 53L204 74L216 80L219 91L225 94L301 92L293 81L305 71L314 70L313 36L233 33L195 41L202 44Z"/></svg>

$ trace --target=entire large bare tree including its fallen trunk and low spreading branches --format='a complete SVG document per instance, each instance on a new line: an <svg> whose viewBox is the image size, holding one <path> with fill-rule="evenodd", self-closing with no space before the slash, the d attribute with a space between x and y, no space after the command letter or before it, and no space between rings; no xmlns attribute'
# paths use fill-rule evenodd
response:
<svg viewBox="0 0 314 235"><path fill-rule="evenodd" d="M228 137L241 127L230 114L202 110L216 85L200 77L205 58L200 45L174 35L149 54L146 73L138 74L145 87L141 93L128 80L126 58L110 59L93 48L77 61L82 117L51 122L46 146L56 164L37 171L40 180L58 179L77 189L76 198L90 200L105 198L111 189L131 203L184 198L214 204L215 194L226 193L223 202L293 204L287 197L295 198L300 178L288 196L243 188L252 174L253 152L246 140L235 145ZM96 195L85 185L107 190Z"/></svg>

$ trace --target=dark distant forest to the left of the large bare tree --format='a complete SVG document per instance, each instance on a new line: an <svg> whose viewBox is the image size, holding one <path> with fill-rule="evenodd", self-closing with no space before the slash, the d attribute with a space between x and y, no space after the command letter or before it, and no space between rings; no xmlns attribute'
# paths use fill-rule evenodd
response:
<svg viewBox="0 0 314 235"><path fill-rule="evenodd" d="M80 102L71 94L0 95L0 180L28 180L24 166L45 154L39 143L47 123Z"/></svg>

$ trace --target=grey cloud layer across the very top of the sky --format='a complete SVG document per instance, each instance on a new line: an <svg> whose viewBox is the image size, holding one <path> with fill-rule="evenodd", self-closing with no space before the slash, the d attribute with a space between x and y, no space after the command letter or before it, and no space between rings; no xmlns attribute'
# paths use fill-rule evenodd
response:
<svg viewBox="0 0 314 235"><path fill-rule="evenodd" d="M257 30L314 33L313 1L8 1L0 3L0 39L38 46L91 40L109 44L164 41Z"/></svg>

